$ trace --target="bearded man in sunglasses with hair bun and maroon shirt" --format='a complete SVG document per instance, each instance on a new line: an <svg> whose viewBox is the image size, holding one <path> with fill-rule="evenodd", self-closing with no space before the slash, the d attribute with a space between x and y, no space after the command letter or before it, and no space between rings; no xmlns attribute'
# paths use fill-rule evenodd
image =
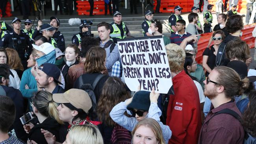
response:
<svg viewBox="0 0 256 144"><path fill-rule="evenodd" d="M217 66L204 84L204 95L212 106L202 125L198 144L242 144L244 130L236 118L241 117L241 113L234 96L243 94L249 87L249 79L241 79L232 68Z"/></svg>

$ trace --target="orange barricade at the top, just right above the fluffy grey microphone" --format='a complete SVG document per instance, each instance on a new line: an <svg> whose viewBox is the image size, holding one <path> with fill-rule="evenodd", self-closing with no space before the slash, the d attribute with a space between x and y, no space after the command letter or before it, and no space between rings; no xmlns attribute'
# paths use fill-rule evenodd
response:
<svg viewBox="0 0 256 144"><path fill-rule="evenodd" d="M78 15L90 15L90 4L88 1L77 0L77 12ZM104 15L105 5L104 0L94 1L93 15ZM109 13L109 11L108 11Z"/></svg>

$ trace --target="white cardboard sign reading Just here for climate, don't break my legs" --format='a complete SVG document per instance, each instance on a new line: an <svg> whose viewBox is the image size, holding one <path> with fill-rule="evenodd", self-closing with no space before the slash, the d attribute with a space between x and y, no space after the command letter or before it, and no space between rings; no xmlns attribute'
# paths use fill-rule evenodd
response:
<svg viewBox="0 0 256 144"><path fill-rule="evenodd" d="M128 88L174 94L171 70L162 36L117 41L122 74Z"/></svg>

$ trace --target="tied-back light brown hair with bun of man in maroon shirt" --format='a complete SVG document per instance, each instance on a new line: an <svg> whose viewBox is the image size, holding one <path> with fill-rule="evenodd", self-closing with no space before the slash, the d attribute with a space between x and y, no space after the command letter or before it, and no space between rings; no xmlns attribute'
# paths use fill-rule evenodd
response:
<svg viewBox="0 0 256 144"><path fill-rule="evenodd" d="M241 79L239 74L232 68L226 66L217 66L213 70L218 72L218 85L224 87L224 93L227 98L232 98L235 95L241 95L249 87L249 79Z"/></svg>

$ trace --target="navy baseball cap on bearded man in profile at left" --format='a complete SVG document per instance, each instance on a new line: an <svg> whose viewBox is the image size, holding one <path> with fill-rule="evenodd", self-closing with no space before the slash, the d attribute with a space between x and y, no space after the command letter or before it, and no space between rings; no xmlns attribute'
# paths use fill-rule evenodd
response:
<svg viewBox="0 0 256 144"><path fill-rule="evenodd" d="M63 85L60 81L59 81L59 76L60 76L60 70L58 68L58 66L52 64L52 63L44 63L43 68L39 67L39 70L42 70L45 74L47 74L48 76L52 77L55 81L57 81L59 84Z"/></svg>

